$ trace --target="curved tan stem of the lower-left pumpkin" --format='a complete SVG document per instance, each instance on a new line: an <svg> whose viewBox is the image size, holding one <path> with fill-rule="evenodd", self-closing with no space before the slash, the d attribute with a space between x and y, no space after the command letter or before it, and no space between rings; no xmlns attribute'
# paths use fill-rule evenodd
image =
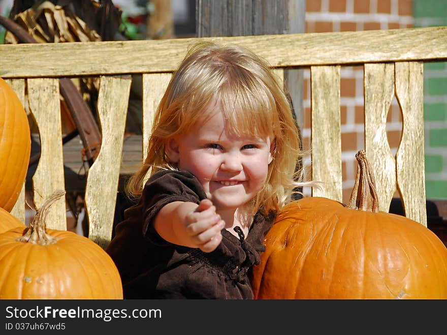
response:
<svg viewBox="0 0 447 335"><path fill-rule="evenodd" d="M52 237L46 231L45 220L48 215L48 211L51 205L59 198L65 195L65 191L55 191L47 200L44 201L42 206L37 210L36 216L33 222L29 224L29 228L25 230L23 236L17 238L20 242L29 242L34 245L47 246L56 243L58 238Z"/></svg>

